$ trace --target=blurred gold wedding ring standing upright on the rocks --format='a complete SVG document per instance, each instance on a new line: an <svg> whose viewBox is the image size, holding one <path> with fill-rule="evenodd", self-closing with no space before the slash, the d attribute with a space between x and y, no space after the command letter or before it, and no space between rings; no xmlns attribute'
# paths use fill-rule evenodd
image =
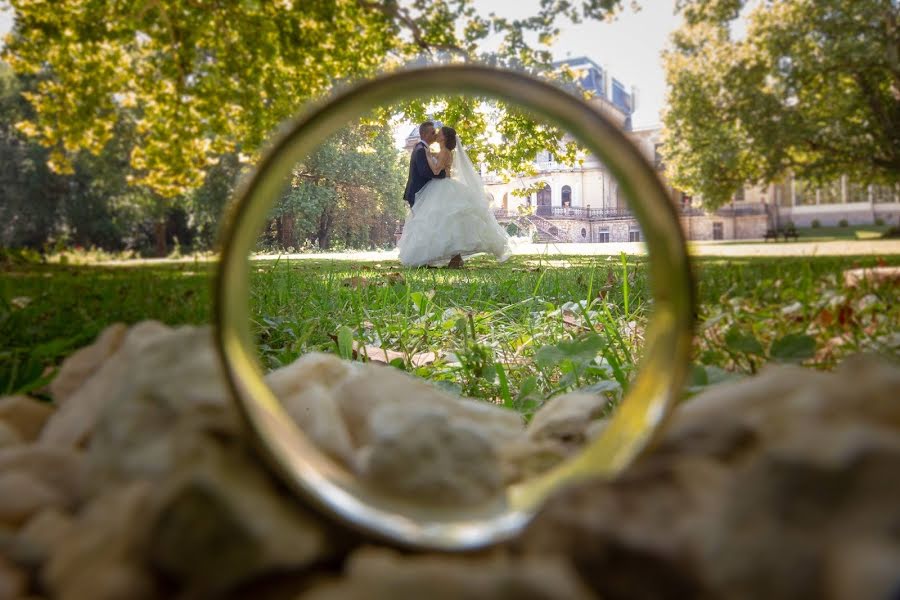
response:
<svg viewBox="0 0 900 600"><path fill-rule="evenodd" d="M249 261L291 169L373 107L436 95L488 96L571 132L609 169L630 201L650 255L653 316L640 369L602 434L549 472L502 498L465 509L423 506L371 489L303 434L263 381L250 331ZM314 106L276 136L236 193L226 219L215 289L218 351L254 442L310 506L363 533L413 548L467 550L516 535L562 486L621 472L658 434L685 381L693 284L678 214L656 173L610 120L539 79L473 65L411 69L366 81Z"/></svg>

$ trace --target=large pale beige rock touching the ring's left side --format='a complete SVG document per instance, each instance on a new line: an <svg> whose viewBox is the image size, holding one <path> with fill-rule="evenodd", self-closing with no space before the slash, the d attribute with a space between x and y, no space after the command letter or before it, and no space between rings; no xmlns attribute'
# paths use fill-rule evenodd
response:
<svg viewBox="0 0 900 600"><path fill-rule="evenodd" d="M181 327L147 337L129 332L117 355L77 396L100 381L107 387L95 407L89 453L96 484L158 479L184 458L179 445L185 440L205 431L240 430L209 328Z"/></svg>

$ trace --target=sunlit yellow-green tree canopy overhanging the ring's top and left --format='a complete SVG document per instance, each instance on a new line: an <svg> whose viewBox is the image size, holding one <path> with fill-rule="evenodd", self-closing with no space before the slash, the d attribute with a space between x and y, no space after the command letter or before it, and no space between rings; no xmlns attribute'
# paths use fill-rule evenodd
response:
<svg viewBox="0 0 900 600"><path fill-rule="evenodd" d="M335 83L423 57L539 70L560 19L602 18L620 2L542 0L532 17L506 20L479 14L475 0L12 0L4 59L40 76L27 96L36 117L19 128L50 149L55 171L101 152L124 123L134 133L130 181L175 198L223 154L252 161L278 123ZM502 43L488 55L480 47L492 34ZM466 116L478 148L488 132L476 104L451 102L447 114ZM538 143L561 139L513 118L523 143L486 153L489 162L527 161Z"/></svg>

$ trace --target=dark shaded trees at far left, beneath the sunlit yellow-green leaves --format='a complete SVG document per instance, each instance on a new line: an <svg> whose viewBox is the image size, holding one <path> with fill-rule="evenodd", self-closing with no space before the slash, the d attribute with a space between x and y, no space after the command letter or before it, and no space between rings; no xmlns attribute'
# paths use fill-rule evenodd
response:
<svg viewBox="0 0 900 600"><path fill-rule="evenodd" d="M150 253L160 241L176 236L190 243L193 232L186 225L185 207L129 182L123 166L130 144L127 128L118 131L98 155L76 156L69 173L48 168L48 150L14 127L33 116L24 96L37 83L36 77L16 77L8 65L0 63L0 245L44 250L96 246ZM213 186L223 181L227 180L219 176ZM196 193L202 195L209 187ZM165 239L160 240L160 234Z"/></svg>

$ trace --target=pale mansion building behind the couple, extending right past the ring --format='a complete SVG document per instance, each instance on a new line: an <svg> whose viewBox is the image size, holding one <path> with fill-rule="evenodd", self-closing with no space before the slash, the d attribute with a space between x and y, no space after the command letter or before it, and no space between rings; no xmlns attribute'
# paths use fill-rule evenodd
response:
<svg viewBox="0 0 900 600"><path fill-rule="evenodd" d="M629 92L607 70L588 58L567 59L566 64L582 73L581 86L592 92L589 103L619 125L644 154L662 179L661 129L634 130L631 116L635 93ZM418 142L418 130L406 140L408 149ZM549 152L535 160L534 175L504 180L483 172L485 192L501 223L514 223L548 242L636 242L641 241L640 225L628 209L618 182L596 157L587 155L580 165L565 165ZM698 199L667 185L669 197L678 208L682 227L689 240L758 239L767 231L790 223L809 226L871 224L879 219L896 223L900 217L900 189L870 186L860 188L842 179L826 189L812 190L790 179L742 190L728 205L706 211ZM537 189L522 197L516 190Z"/></svg>

